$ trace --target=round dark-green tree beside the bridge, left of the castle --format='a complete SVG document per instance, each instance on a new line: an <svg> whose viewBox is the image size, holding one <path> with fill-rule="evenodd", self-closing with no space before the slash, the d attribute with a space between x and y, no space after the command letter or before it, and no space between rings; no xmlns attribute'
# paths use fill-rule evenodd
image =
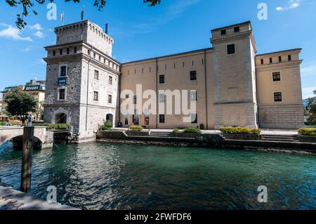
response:
<svg viewBox="0 0 316 224"><path fill-rule="evenodd" d="M6 95L6 110L13 116L18 116L25 120L27 113L35 112L37 106L36 100L32 95L29 95L18 88L13 88Z"/></svg>

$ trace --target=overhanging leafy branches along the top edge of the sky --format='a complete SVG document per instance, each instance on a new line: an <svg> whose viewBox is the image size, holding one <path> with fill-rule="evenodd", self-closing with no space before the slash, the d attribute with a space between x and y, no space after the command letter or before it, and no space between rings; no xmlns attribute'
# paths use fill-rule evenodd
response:
<svg viewBox="0 0 316 224"><path fill-rule="evenodd" d="M27 17L29 15L29 11L32 11L34 15L37 15L37 11L34 11L33 6L35 4L43 5L45 2L51 2L53 3L55 0L5 0L6 4L11 7L18 7L22 6L22 13L17 14L17 20L15 22L15 25L22 29L27 25L27 23L24 21L24 17ZM65 2L74 2L79 3L80 0L65 0ZM143 0L144 3L149 4L148 6L156 6L157 4L160 4L161 0ZM94 0L93 6L96 6L98 8L98 11L101 11L103 7L107 4L106 0Z"/></svg>

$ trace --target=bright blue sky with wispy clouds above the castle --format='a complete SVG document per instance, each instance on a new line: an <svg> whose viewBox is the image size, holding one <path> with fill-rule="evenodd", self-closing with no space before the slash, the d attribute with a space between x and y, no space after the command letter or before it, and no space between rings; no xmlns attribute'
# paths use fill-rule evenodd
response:
<svg viewBox="0 0 316 224"><path fill-rule="evenodd" d="M258 20L259 3L268 6L268 20ZM120 62L211 47L211 29L251 20L258 53L303 48L301 65L303 98L316 89L316 0L162 0L149 8L143 0L107 0L103 11L92 1L80 4L57 1L58 20L48 20L47 4L36 6L38 15L29 14L27 27L15 29L20 8L0 3L0 90L25 84L29 79L45 79L44 46L55 42L53 28L85 19L100 27L109 22L114 38L113 57Z"/></svg>

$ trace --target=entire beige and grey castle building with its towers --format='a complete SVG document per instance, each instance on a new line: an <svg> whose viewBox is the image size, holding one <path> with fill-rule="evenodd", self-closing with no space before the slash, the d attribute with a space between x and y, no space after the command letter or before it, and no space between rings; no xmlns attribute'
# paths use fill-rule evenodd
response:
<svg viewBox="0 0 316 224"><path fill-rule="evenodd" d="M211 48L121 64L112 58L114 40L88 20L55 28L47 46L47 123L70 123L79 140L93 138L100 124L151 129L246 126L297 129L303 126L301 48L257 55L251 22L211 31ZM140 97L138 86L141 85ZM125 91L131 94L122 94ZM146 103L153 90L157 108L125 112L121 103ZM166 112L161 91L187 90L187 114ZM173 110L178 107L173 101Z"/></svg>

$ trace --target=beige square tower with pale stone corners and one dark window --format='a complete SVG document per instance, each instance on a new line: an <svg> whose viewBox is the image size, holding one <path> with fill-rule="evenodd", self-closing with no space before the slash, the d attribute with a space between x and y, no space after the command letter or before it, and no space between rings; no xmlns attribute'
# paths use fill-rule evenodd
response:
<svg viewBox="0 0 316 224"><path fill-rule="evenodd" d="M212 30L215 129L258 127L256 44L251 23Z"/></svg>

